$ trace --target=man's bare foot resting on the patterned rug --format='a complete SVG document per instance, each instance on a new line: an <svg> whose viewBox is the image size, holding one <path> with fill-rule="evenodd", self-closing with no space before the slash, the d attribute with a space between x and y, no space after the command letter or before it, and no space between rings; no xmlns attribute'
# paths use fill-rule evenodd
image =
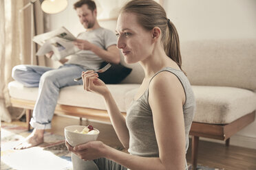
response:
<svg viewBox="0 0 256 170"><path fill-rule="evenodd" d="M44 130L34 129L32 134L30 134L22 143L19 143L14 149L27 149L30 147L35 147L43 143L43 133Z"/></svg>

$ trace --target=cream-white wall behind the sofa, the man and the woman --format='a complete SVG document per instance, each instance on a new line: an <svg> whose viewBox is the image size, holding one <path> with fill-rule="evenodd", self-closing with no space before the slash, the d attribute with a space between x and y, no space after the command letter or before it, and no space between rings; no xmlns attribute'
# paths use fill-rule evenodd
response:
<svg viewBox="0 0 256 170"><path fill-rule="evenodd" d="M256 38L255 0L163 0L167 16L178 29L180 41ZM83 31L73 3L59 14L46 15L46 29L67 27L73 34ZM100 22L115 30L116 21ZM56 66L48 61L50 66ZM256 121L231 138L231 145L256 149Z"/></svg>

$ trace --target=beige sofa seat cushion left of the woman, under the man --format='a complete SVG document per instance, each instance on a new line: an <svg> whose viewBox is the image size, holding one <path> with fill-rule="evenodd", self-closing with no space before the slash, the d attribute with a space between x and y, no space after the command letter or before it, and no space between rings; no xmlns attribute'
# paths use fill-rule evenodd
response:
<svg viewBox="0 0 256 170"><path fill-rule="evenodd" d="M120 111L126 112L140 84L108 84L107 86ZM10 82L8 88L11 97L30 101L36 101L39 91L39 88L26 88L16 81ZM103 97L83 90L83 86L62 88L58 97L58 104L106 110Z"/></svg>

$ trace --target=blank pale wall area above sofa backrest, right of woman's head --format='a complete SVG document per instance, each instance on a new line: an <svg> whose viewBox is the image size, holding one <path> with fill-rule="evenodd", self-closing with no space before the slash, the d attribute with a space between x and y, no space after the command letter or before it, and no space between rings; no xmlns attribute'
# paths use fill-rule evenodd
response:
<svg viewBox="0 0 256 170"><path fill-rule="evenodd" d="M181 41L256 38L255 0L164 0Z"/></svg>

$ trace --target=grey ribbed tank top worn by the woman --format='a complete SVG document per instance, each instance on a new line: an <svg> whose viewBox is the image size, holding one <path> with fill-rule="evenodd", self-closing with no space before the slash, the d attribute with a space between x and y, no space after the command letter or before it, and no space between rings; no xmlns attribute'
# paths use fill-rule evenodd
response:
<svg viewBox="0 0 256 170"><path fill-rule="evenodd" d="M195 113L195 97L191 84L186 75L180 70L166 67L158 71L169 71L180 80L186 101L183 105L184 125L186 133L186 150L189 147L189 130ZM155 77L156 73L153 77ZM153 79L151 78L151 80ZM151 81L150 80L150 81ZM150 82L149 82L150 83ZM127 110L126 123L129 129L129 153L144 157L159 157L158 144L156 142L156 134L153 128L152 111L149 106L149 88L138 99L131 102L131 106Z"/></svg>

